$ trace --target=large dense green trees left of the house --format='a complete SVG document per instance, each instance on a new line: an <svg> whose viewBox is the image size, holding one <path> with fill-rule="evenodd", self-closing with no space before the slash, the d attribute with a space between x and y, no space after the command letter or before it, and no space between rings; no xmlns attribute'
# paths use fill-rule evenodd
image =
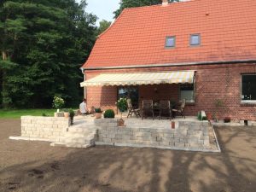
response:
<svg viewBox="0 0 256 192"><path fill-rule="evenodd" d="M79 100L79 67L96 40L86 1L0 3L0 83L4 108L50 107L53 96Z"/></svg>

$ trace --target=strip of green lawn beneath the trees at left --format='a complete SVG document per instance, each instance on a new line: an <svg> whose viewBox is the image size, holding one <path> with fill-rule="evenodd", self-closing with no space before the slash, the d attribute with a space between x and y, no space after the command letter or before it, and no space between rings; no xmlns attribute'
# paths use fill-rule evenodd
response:
<svg viewBox="0 0 256 192"><path fill-rule="evenodd" d="M56 109L0 109L0 119L20 119L23 115L42 116L45 113L47 116L53 116Z"/></svg>

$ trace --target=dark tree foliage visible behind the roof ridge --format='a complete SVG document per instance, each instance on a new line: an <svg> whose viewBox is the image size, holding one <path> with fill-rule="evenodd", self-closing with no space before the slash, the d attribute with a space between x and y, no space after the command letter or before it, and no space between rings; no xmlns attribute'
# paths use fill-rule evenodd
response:
<svg viewBox="0 0 256 192"><path fill-rule="evenodd" d="M179 0L169 0L172 2L179 2ZM136 8L142 6L149 6L154 4L160 4L162 0L121 0L119 3L119 9L113 12L114 18L118 18L118 16L122 13L122 11L126 8Z"/></svg>

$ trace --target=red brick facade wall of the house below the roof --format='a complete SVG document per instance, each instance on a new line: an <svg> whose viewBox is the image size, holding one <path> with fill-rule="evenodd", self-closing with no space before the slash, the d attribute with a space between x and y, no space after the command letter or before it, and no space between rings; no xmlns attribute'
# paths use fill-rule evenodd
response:
<svg viewBox="0 0 256 192"><path fill-rule="evenodd" d="M196 115L198 111L207 113L217 111L218 119L256 120L256 105L241 104L241 74L256 73L256 63L197 65L186 67L148 67L116 70L85 71L86 79L91 79L99 73L131 73L131 72L159 72L159 71L195 70L195 103L185 108L186 115ZM139 87L139 101L143 99L179 100L178 84L142 85ZM157 87L157 93L154 88ZM88 106L113 108L116 110L117 86L87 87L86 96ZM224 106L215 107L216 100L221 100Z"/></svg>

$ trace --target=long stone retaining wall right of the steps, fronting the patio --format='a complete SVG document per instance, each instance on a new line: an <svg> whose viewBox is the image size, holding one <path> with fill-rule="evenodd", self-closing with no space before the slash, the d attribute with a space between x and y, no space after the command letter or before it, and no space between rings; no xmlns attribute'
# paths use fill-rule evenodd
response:
<svg viewBox="0 0 256 192"><path fill-rule="evenodd" d="M95 125L98 127L96 145L188 150L207 149L210 145L207 121L180 121L176 129L120 127L117 119L95 119Z"/></svg>

